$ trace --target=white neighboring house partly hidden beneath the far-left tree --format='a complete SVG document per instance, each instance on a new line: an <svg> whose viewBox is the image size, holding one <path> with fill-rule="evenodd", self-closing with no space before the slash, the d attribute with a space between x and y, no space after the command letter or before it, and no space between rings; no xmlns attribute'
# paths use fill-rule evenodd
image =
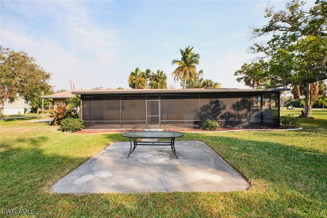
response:
<svg viewBox="0 0 327 218"><path fill-rule="evenodd" d="M29 112L30 109L30 102L25 99L7 99L3 104L0 104L0 115L24 114Z"/></svg>

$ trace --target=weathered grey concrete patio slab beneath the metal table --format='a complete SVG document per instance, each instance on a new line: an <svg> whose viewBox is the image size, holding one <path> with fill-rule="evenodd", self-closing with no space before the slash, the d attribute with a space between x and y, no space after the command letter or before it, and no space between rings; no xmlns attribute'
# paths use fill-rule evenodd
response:
<svg viewBox="0 0 327 218"><path fill-rule="evenodd" d="M200 141L170 146L138 146L127 158L129 142L110 144L52 187L55 193L136 193L235 191L247 180Z"/></svg>

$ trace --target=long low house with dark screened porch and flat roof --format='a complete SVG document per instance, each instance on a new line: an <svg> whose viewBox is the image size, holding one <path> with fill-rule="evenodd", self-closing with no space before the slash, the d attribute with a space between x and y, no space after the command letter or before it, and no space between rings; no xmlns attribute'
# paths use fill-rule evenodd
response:
<svg viewBox="0 0 327 218"><path fill-rule="evenodd" d="M74 90L86 129L279 127L279 95L286 89Z"/></svg>

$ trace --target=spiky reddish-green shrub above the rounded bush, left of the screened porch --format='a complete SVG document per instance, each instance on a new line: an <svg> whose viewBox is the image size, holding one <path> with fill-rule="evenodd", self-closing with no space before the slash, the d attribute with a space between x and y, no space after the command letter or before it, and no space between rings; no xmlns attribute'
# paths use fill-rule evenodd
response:
<svg viewBox="0 0 327 218"><path fill-rule="evenodd" d="M72 117L72 118L78 118L77 111L73 108L66 108L62 105L57 105L55 109L51 109L49 111L50 117L53 117L52 122L50 122L50 125L60 126L61 121L65 118Z"/></svg>

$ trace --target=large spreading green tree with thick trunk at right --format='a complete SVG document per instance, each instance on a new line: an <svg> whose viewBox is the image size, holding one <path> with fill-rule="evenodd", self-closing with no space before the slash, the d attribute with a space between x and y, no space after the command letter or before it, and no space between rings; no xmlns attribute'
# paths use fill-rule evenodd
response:
<svg viewBox="0 0 327 218"><path fill-rule="evenodd" d="M270 40L249 47L259 57L245 63L235 76L253 88L292 87L293 93L305 93L305 115L310 117L318 81L327 79L327 2L318 0L309 10L303 6L305 2L294 0L286 10L266 9L270 20L253 28L252 38L270 36Z"/></svg>

